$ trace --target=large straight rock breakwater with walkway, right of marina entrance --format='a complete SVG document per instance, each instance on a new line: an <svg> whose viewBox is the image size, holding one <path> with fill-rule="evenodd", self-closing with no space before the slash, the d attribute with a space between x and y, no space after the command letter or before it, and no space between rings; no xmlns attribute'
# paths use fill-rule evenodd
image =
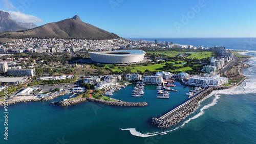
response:
<svg viewBox="0 0 256 144"><path fill-rule="evenodd" d="M194 112L196 107L198 106L198 102L209 95L214 88L210 87L196 95L194 98L186 101L175 109L167 112L163 116L156 118L152 118L152 123L157 125L158 127L170 127L178 124L182 121L186 116L190 113Z"/></svg>

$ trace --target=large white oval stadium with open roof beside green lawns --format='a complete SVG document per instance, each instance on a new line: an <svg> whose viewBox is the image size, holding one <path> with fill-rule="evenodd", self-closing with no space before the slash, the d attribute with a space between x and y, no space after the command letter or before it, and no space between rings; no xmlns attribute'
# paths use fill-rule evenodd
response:
<svg viewBox="0 0 256 144"><path fill-rule="evenodd" d="M99 63L138 63L143 61L146 52L140 50L122 50L108 52L89 52L91 60Z"/></svg>

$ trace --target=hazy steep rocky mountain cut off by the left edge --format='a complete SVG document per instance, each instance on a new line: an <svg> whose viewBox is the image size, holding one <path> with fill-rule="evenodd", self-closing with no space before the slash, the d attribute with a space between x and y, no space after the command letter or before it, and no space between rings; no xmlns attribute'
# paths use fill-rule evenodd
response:
<svg viewBox="0 0 256 144"><path fill-rule="evenodd" d="M16 21L12 20L8 12L4 12L0 10L0 32L4 32L4 31L16 32L20 30L27 30L27 28L19 26L19 24Z"/></svg>

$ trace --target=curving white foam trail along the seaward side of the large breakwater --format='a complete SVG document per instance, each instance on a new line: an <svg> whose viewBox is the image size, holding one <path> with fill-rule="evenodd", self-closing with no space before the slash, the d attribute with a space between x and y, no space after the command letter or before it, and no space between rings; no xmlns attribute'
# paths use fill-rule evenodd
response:
<svg viewBox="0 0 256 144"><path fill-rule="evenodd" d="M208 95L206 98L204 98L203 100L201 100L201 101L199 102L199 105L200 105L201 102L203 102L205 99L211 97L212 95L215 95L215 99L212 100L212 102L211 102L210 104L208 104L208 105L202 107L202 108L200 109L200 112L199 112L198 114L196 114L195 116L193 116L193 117L191 117L191 118L188 118L187 121L183 122L183 124L182 124L181 126L178 126L178 127L176 127L175 129L172 129L172 130L169 130L169 131L164 131L164 132L153 132L153 133L149 133L149 132L148 132L148 133L144 133L144 134L143 134L143 133L140 133L140 132L138 132L138 131L136 131L136 128L127 128L127 129L119 128L119 129L121 129L122 131L130 131L130 133L131 133L132 135L138 136L138 137L151 137L151 136L155 136L155 135L165 135L165 134L167 134L167 133L170 133L170 132L172 132L172 131L175 131L175 130L177 130L177 129L179 129L179 128L184 127L185 124L187 124L187 123L190 122L191 120L196 119L196 118L198 118L199 116L203 115L205 109L208 109L208 108L210 108L210 107L216 105L217 102L218 102L217 100L220 99L220 95L218 95L218 94L210 94L210 95Z"/></svg>

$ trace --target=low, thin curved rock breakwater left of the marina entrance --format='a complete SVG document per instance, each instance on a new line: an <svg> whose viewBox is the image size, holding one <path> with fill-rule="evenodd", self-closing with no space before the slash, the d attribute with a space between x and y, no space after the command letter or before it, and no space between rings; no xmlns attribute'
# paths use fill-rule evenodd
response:
<svg viewBox="0 0 256 144"><path fill-rule="evenodd" d="M147 106L147 103L127 103L127 102L111 102L111 101L103 101L103 100L98 100L94 98L78 98L78 99L73 99L73 100L67 100L67 101L58 101L58 102L51 102L51 104L57 104L59 106L69 106L81 102L94 102L94 103L99 103L99 104L104 104L104 105L110 105L110 106L122 106L122 107L143 107Z"/></svg>

